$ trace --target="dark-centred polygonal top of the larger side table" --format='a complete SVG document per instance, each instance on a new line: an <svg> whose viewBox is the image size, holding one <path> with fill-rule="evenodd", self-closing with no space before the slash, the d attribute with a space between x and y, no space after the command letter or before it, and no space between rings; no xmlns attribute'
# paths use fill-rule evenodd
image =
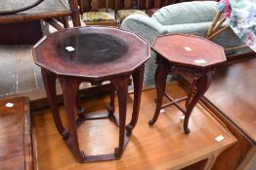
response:
<svg viewBox="0 0 256 170"><path fill-rule="evenodd" d="M109 27L79 27L44 37L34 62L57 75L103 78L131 73L149 59L149 44L136 34Z"/></svg>

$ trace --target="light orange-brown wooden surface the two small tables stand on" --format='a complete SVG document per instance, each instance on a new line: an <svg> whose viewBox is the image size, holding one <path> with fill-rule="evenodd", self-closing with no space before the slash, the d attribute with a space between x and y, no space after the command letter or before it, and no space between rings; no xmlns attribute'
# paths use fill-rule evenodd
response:
<svg viewBox="0 0 256 170"><path fill-rule="evenodd" d="M182 96L185 91L176 83L167 86L167 91ZM205 154L214 153L235 143L233 135L224 126L212 119L203 107L197 105L192 112L192 133L183 132L181 112L175 107L166 108L157 122L149 127L155 104L155 90L143 92L138 125L120 160L78 163L64 145L48 109L33 113L38 165L42 170L75 169L179 169ZM128 118L132 110L133 95L129 95ZM105 112L108 96L98 96L83 102L87 112ZM65 121L64 108L61 107ZM117 147L118 128L108 119L91 120L78 128L80 148L85 154L112 153ZM224 140L217 142L222 135Z"/></svg>

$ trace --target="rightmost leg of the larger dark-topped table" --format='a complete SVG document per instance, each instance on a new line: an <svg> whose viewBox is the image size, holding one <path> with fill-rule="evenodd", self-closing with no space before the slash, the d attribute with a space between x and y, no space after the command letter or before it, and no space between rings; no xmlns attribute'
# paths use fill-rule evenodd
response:
<svg viewBox="0 0 256 170"><path fill-rule="evenodd" d="M134 71L132 74L134 83L134 103L133 103L133 114L131 122L126 126L126 130L131 134L133 128L137 124L139 118L139 111L141 105L142 89L143 89L143 78L144 78L144 64Z"/></svg>

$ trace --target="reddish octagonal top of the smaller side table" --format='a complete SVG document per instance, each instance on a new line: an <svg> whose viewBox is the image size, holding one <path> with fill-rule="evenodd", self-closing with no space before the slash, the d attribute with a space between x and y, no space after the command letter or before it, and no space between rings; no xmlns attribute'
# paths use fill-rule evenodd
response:
<svg viewBox="0 0 256 170"><path fill-rule="evenodd" d="M193 67L210 67L226 61L222 47L199 36L169 34L156 37L152 50L170 62Z"/></svg>

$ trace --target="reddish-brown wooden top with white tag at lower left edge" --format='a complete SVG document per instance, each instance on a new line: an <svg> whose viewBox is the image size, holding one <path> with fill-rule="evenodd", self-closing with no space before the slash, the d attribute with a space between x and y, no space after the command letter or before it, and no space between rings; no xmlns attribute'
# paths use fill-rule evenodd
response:
<svg viewBox="0 0 256 170"><path fill-rule="evenodd" d="M7 103L14 104L6 107ZM0 167L32 170L34 167L28 98L0 101Z"/></svg>

